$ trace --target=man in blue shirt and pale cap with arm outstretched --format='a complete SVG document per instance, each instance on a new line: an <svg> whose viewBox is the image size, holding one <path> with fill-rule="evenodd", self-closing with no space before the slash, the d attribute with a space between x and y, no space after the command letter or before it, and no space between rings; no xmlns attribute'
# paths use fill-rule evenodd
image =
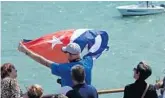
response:
<svg viewBox="0 0 165 98"><path fill-rule="evenodd" d="M35 61L43 64L51 69L52 74L61 77L61 86L73 86L72 78L70 75L71 68L76 64L81 64L85 69L85 82L91 84L91 74L93 68L93 58L92 56L84 56L82 59L80 57L81 48L77 43L70 43L66 47L62 47L62 51L68 56L68 63L58 64L50 60L45 59L43 56L35 54L23 44L19 44L18 50L25 53L27 56L31 57Z"/></svg>

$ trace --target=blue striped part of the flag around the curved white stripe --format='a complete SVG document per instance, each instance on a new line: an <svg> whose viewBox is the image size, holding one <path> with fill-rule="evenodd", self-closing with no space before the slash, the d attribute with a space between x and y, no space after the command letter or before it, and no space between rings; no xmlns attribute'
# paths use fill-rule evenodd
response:
<svg viewBox="0 0 165 98"><path fill-rule="evenodd" d="M78 43L81 47L81 51L85 48L88 44L88 50L95 44L95 38L97 35L101 36L101 45L98 50L94 53L87 53L86 56L94 56L98 58L105 49L109 49L108 45L108 34L105 31L98 31L98 30L87 30L86 32L82 33L78 38L76 38L73 42ZM96 43L97 44L97 43Z"/></svg>

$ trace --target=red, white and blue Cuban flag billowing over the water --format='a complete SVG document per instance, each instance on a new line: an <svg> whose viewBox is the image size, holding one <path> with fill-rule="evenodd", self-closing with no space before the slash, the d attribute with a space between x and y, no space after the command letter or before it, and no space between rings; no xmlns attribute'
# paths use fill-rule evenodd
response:
<svg viewBox="0 0 165 98"><path fill-rule="evenodd" d="M56 63L68 62L62 47L75 42L80 45L82 56L97 59L104 50L108 50L108 33L93 29L70 29L44 35L34 40L23 40L28 49ZM85 51L85 52L84 52Z"/></svg>

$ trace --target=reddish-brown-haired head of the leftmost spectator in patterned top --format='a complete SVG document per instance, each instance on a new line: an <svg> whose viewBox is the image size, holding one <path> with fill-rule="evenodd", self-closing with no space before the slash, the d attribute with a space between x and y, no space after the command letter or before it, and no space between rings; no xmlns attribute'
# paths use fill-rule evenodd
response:
<svg viewBox="0 0 165 98"><path fill-rule="evenodd" d="M1 79L10 77L15 79L17 77L17 70L11 63L4 63L1 66Z"/></svg>

